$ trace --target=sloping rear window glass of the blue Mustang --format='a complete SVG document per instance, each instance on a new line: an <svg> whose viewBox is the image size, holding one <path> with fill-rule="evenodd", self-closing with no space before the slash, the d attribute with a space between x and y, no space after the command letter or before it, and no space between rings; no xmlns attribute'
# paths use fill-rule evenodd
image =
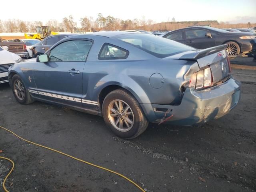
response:
<svg viewBox="0 0 256 192"><path fill-rule="evenodd" d="M181 52L194 50L194 48L179 42L148 34L126 34L116 36L116 38L132 44L133 46L158 58L164 58Z"/></svg>

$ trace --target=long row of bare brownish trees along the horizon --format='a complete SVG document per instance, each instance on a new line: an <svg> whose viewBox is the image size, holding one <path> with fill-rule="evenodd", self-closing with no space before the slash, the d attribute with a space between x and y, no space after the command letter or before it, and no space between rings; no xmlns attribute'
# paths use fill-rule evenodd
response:
<svg viewBox="0 0 256 192"><path fill-rule="evenodd" d="M141 30L176 30L179 28L184 28L193 25L206 25L210 24L212 27L216 28L242 28L242 27L255 27L256 24L251 24L250 22L246 24L229 24L228 22L218 22L216 20L206 20L206 21L186 21L186 22L176 22L175 18L169 22L155 23L152 19L146 19L144 16L141 19L128 19L122 20L119 18L114 18L113 16L104 17L101 13L98 14L97 18L94 20L93 17L80 18L79 26L74 21L72 15L62 19L62 22L58 22L55 19L49 20L45 23L41 21L22 21L19 19L9 19L6 21L0 20L0 32L36 32L36 26L50 26L52 32L70 32L70 30L76 28L80 31L99 31L99 30L131 30L131 29L141 29Z"/></svg>

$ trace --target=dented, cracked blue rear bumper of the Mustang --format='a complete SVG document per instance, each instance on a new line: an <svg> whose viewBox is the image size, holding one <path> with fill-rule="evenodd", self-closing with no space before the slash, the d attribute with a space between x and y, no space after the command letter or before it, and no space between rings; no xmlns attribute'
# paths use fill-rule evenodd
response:
<svg viewBox="0 0 256 192"><path fill-rule="evenodd" d="M227 114L241 97L241 82L230 78L226 82L202 91L187 88L180 105L141 104L150 122L159 122L166 110L173 115L166 123L190 126Z"/></svg>

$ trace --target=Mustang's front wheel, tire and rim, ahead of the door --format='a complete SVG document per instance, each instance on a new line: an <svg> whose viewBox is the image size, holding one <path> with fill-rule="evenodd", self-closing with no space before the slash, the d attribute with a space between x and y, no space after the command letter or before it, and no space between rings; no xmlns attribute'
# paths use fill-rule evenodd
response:
<svg viewBox="0 0 256 192"><path fill-rule="evenodd" d="M14 97L20 104L27 105L34 101L30 93L26 89L24 82L17 74L12 76L11 86Z"/></svg>

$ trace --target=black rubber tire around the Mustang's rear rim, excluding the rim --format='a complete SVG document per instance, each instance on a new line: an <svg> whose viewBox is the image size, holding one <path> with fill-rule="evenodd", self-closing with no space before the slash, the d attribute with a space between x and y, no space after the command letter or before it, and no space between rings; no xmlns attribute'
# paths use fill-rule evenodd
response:
<svg viewBox="0 0 256 192"><path fill-rule="evenodd" d="M124 92L126 93L126 92ZM121 94L118 92L110 92L110 94L108 94L106 96L106 98L103 101L103 105L102 105L102 115L103 118L107 124L107 126L112 130L112 132L114 132L114 134L116 134L117 136L121 137L121 138L131 138L132 136L136 135L139 131L140 128L140 121L141 121L141 110L140 110L140 106L138 106L137 102L134 102L135 98L129 98L129 95L126 94ZM124 102L126 102L134 115L134 124L131 128L131 130L127 131L127 132L121 132L119 130L117 130L116 128L114 128L114 126L112 126L109 118L108 118L108 105L110 104L110 102L112 102L113 100L123 100ZM135 100L136 101L136 100Z"/></svg>

